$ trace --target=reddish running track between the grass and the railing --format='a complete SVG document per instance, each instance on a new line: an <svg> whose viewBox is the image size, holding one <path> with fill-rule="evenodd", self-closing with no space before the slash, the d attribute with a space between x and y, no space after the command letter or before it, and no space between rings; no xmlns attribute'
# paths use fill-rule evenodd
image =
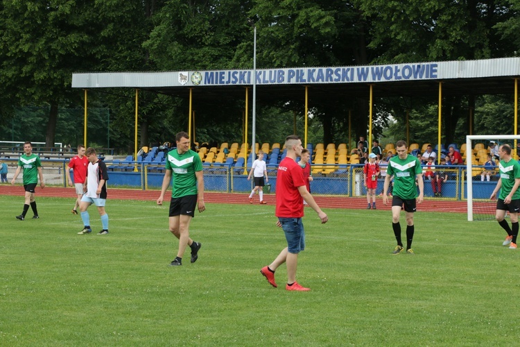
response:
<svg viewBox="0 0 520 347"><path fill-rule="evenodd" d="M24 187L21 185L0 185L0 195L14 195L23 196ZM36 187L36 196L49 196L60 198L74 198L76 192L73 188L62 187L45 187L41 189ZM140 190L140 189L108 189L108 198L121 200L142 200L155 201L159 197L157 190ZM208 193L204 194L206 203L236 203L248 204L248 194L238 193ZM366 198L349 198L345 196L315 196L315 201L320 205L320 208L350 208L350 209L365 209L367 207ZM275 194L263 194L263 200L268 205L275 205ZM254 203L259 203L258 196L253 198ZM383 205L383 199L377 197L377 208L379 210L390 210L390 205ZM426 198L421 205L417 206L419 212L467 212L467 203L465 201L450 201L440 200L438 198Z"/></svg>

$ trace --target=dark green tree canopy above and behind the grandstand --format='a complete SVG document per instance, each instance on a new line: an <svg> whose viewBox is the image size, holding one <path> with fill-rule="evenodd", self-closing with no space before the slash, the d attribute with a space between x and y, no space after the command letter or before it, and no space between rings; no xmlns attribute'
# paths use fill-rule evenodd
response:
<svg viewBox="0 0 520 347"><path fill-rule="evenodd" d="M517 56L519 10L520 0L3 0L0 137L43 136L48 145L81 139L83 127L67 111L83 105L83 91L71 89L73 72L250 69L252 26L259 68L469 60ZM89 93L94 109L109 110L110 131L103 134L110 135L112 146L131 148L134 94ZM141 91L140 100L141 145L171 141L187 129L184 99ZM301 102L259 104L257 140L279 142L292 133L294 117L303 123ZM413 142L431 141L437 132L433 99L375 103L376 136L403 137L406 110ZM356 137L365 135L367 98L329 97L312 106L313 142L347 142L349 112ZM240 100L198 104L200 142L241 142L244 107ZM475 132L492 126L493 132L510 133L512 121L494 121L504 112L512 115L508 97L446 96L445 142L462 142L469 108L475 110ZM40 135L15 134L19 118L33 119ZM103 119L98 124L109 126ZM389 128L391 119L401 126Z"/></svg>

